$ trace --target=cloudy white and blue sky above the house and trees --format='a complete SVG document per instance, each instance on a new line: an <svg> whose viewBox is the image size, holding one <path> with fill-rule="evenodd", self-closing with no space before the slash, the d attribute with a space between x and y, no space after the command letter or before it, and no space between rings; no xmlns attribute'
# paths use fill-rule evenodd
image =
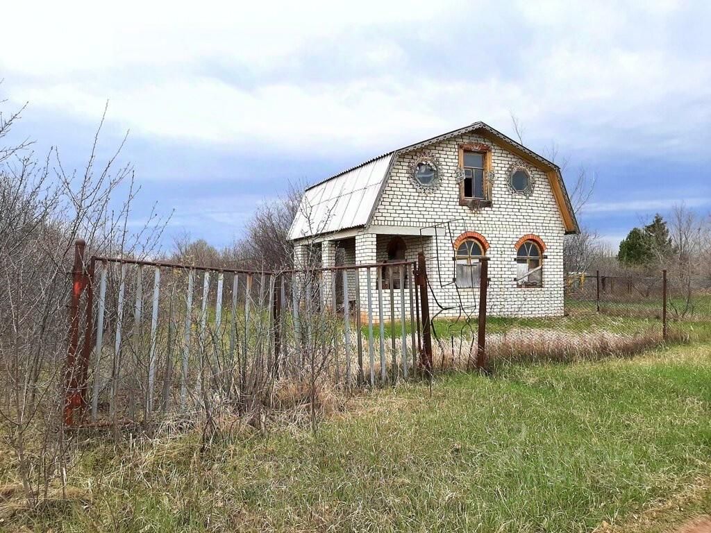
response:
<svg viewBox="0 0 711 533"><path fill-rule="evenodd" d="M103 6L102 6L103 5ZM239 237L260 202L483 120L574 180L597 174L583 225L619 242L685 202L711 209L707 1L14 1L0 98L16 136L137 170L134 221L169 237ZM7 23L11 21L11 23ZM11 44L11 45L9 45Z"/></svg>

